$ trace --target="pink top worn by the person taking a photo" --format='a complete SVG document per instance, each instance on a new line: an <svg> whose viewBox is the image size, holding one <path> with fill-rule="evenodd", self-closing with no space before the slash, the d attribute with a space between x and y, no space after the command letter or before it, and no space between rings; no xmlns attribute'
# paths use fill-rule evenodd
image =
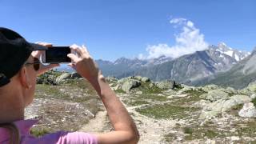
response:
<svg viewBox="0 0 256 144"><path fill-rule="evenodd" d="M88 134L83 132L66 132L66 131L58 131L52 134L46 134L40 138L35 138L30 134L30 128L36 124L38 120L29 119L29 120L21 120L14 122L15 126L18 127L18 130L21 135L21 143L22 144L30 144L30 143L38 143L38 144L97 144L98 140L94 134ZM9 131L5 128L0 128L0 143L1 144L9 144Z"/></svg>

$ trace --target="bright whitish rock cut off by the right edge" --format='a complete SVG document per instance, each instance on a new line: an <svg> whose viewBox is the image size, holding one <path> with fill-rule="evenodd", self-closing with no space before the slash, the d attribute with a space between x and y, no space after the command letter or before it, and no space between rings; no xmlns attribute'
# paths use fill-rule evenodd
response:
<svg viewBox="0 0 256 144"><path fill-rule="evenodd" d="M256 109L254 103L245 103L242 109L238 112L240 117L256 117Z"/></svg>

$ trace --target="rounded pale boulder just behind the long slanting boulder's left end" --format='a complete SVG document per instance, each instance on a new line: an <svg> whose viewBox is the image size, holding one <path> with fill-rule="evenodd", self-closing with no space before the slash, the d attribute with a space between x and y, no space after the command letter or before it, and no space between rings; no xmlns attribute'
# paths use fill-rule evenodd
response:
<svg viewBox="0 0 256 144"><path fill-rule="evenodd" d="M228 98L229 94L223 90L210 90L207 94L202 94L202 98L210 102L217 101L218 99Z"/></svg>

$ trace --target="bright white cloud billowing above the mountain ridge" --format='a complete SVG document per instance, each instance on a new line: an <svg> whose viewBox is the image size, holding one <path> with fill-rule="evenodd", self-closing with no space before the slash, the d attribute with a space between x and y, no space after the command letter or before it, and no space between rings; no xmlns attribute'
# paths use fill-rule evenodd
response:
<svg viewBox="0 0 256 144"><path fill-rule="evenodd" d="M170 23L174 28L180 29L179 34L174 34L174 46L168 46L166 43L147 46L147 55L139 54L138 58L158 58L162 55L171 58L178 58L184 54L192 54L198 50L206 50L207 42L204 40L204 34L194 26L194 23L186 18L173 18Z"/></svg>

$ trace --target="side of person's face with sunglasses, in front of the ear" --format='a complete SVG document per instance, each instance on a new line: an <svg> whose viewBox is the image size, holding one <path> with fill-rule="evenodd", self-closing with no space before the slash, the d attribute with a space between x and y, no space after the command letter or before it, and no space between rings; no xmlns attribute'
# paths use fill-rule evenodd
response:
<svg viewBox="0 0 256 144"><path fill-rule="evenodd" d="M31 102L33 102L34 99L34 90L36 86L36 80L37 80L37 70L35 70L37 65L37 60L30 56L27 60L26 64L26 71L27 71L27 82L28 82L28 89L26 90L26 106L28 106ZM33 64L34 63L34 64Z"/></svg>

